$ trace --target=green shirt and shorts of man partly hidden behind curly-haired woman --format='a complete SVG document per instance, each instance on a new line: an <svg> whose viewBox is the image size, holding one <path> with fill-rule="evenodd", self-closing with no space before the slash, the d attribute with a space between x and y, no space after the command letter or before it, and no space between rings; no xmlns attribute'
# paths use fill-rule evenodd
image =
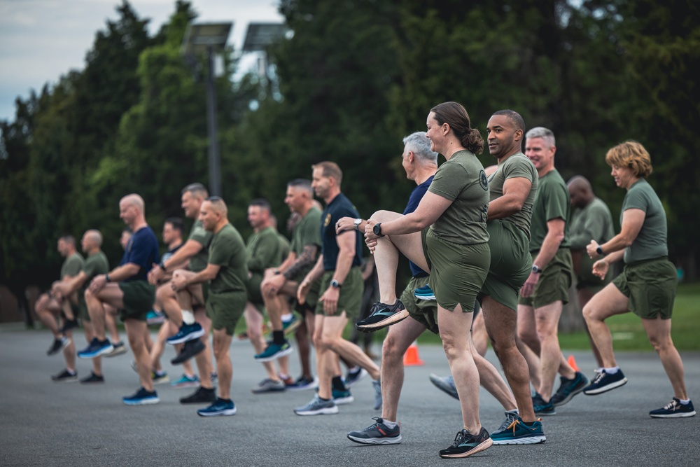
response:
<svg viewBox="0 0 700 467"><path fill-rule="evenodd" d="M591 240L595 240L600 245L608 242L615 237L612 214L608 205L600 198L594 197L586 207L574 209L571 212L569 232L572 250L586 249ZM582 253L580 279L593 283L600 281L593 275L593 263L596 260L591 260L585 251Z"/></svg>

